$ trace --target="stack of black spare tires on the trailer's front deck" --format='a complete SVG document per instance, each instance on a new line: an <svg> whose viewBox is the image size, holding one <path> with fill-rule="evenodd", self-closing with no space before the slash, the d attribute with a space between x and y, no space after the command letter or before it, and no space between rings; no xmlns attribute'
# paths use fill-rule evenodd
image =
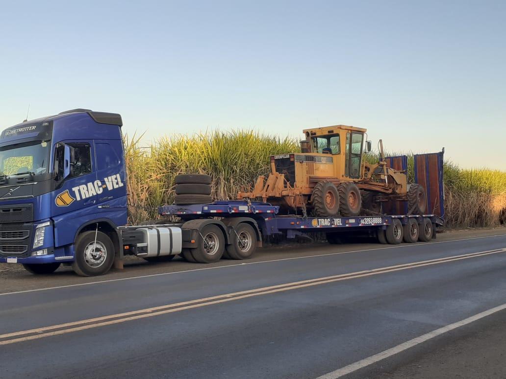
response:
<svg viewBox="0 0 506 379"><path fill-rule="evenodd" d="M176 197L174 204L212 203L211 177L200 174L182 174L176 176Z"/></svg>

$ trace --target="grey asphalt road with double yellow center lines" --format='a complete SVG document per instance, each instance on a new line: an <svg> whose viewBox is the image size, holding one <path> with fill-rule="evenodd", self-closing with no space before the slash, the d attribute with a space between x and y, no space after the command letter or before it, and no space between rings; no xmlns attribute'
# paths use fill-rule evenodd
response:
<svg viewBox="0 0 506 379"><path fill-rule="evenodd" d="M4 286L0 377L313 378L506 303L506 235L372 248ZM349 376L395 376L503 314Z"/></svg>

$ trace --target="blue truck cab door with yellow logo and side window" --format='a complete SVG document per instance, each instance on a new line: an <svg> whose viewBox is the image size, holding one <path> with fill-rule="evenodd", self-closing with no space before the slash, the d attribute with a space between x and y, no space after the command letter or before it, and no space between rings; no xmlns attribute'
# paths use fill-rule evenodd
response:
<svg viewBox="0 0 506 379"><path fill-rule="evenodd" d="M70 151L70 156L65 156L65 150ZM66 178L61 176L64 165L70 171ZM53 172L60 175L51 194L51 214L58 246L73 242L80 217L89 219L90 214L97 213L98 183L93 141L65 140L56 144Z"/></svg>

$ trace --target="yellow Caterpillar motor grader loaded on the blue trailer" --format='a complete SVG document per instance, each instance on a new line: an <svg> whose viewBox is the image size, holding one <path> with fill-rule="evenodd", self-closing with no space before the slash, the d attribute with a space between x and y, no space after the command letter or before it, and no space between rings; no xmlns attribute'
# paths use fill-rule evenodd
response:
<svg viewBox="0 0 506 379"><path fill-rule="evenodd" d="M379 159L369 164L367 130L347 125L306 129L301 153L271 156L271 173L238 199L279 205L287 213L312 211L317 217L382 213L382 203L406 201L410 214L427 209L425 188L408 184L407 173L388 167L379 140Z"/></svg>

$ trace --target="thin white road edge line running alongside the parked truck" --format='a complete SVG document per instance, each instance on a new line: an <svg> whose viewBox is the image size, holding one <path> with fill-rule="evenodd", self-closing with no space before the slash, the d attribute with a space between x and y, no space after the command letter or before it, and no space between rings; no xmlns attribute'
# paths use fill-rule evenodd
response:
<svg viewBox="0 0 506 379"><path fill-rule="evenodd" d="M459 240L425 242L425 243L412 244L412 245L409 245L409 246L410 247L427 246L427 245L432 245L432 244L444 244L444 243L447 243L447 242L478 240L478 239L483 239L483 238L504 237L504 236L506 236L506 234L495 234L495 235L486 235L486 236L482 236L482 237L464 238L464 239L459 239ZM160 272L158 274L131 276L131 277L118 278L118 279L98 280L98 281L91 281L91 282L88 282L88 283L78 283L78 284L75 284L75 285L66 285L66 286L58 286L58 287L47 287L47 288L37 288L37 289L34 289L34 290L25 290L25 291L16 291L16 292L6 292L6 293L3 293L3 294L0 294L0 296L25 294L25 293L28 293L28 292L59 290L59 289L70 288L70 287L91 286L91 285L96 285L96 284L101 284L101 283L109 283L109 282L113 282L113 281L141 279L141 278L147 278L147 277L180 274L180 273L184 273L184 272L193 272L193 271L214 270L214 269L218 269L218 268L228 268L228 267L236 267L236 266L250 265L250 264L280 262L280 261L289 261L289 260L295 260L295 259L306 259L306 258L315 258L315 257L325 257L325 256L340 255L340 254L363 253L363 252L366 252L366 251L396 249L396 248L402 248L402 247L406 247L406 246L407 245L394 245L394 246L387 246L387 247L384 247L384 248L376 248L376 249L352 250L352 251L343 251L343 252L339 252L339 253L326 253L326 254L317 254L317 255L307 255L307 256L304 256L304 257L271 259L271 260L259 261L259 262L235 263L235 264L229 264L229 265L226 265L226 266L195 268L195 269L192 269L192 270L182 270L182 271L173 271L173 272Z"/></svg>

